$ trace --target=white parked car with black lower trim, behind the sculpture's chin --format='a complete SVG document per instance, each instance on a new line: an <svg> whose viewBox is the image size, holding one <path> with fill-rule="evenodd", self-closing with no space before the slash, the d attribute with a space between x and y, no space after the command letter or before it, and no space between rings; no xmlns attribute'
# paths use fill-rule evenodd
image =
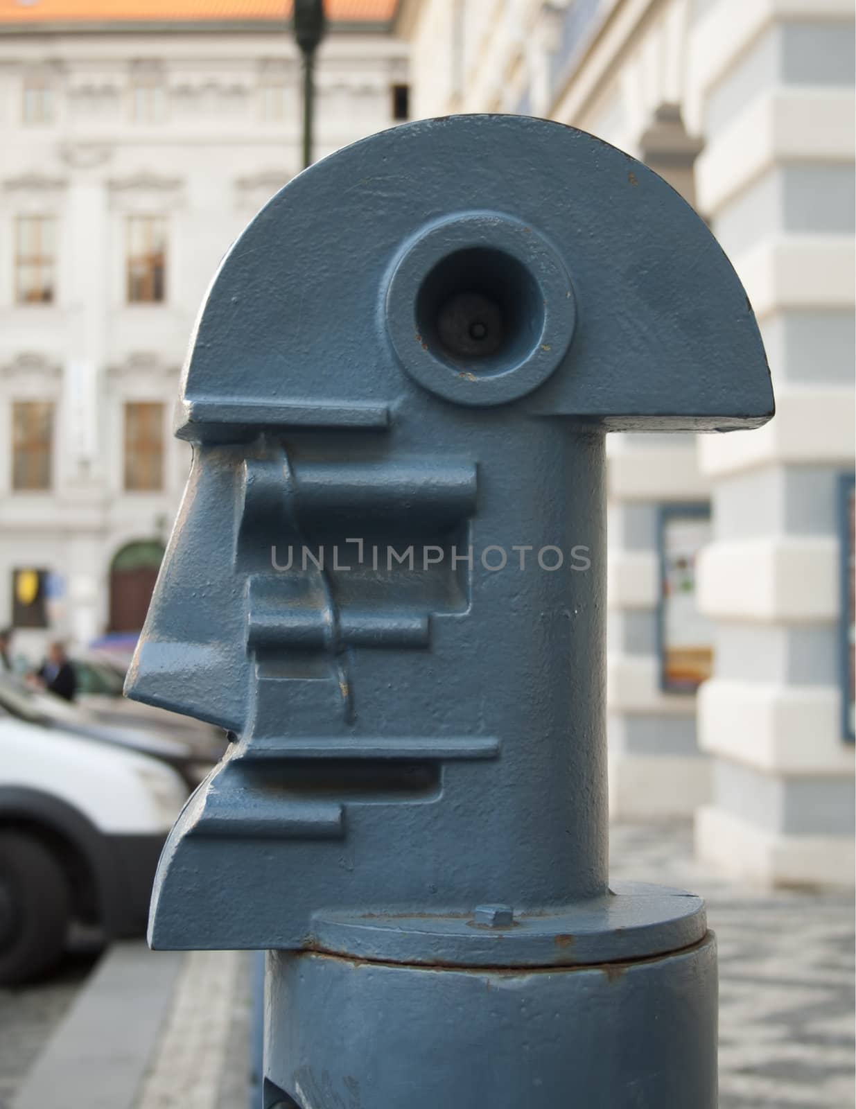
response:
<svg viewBox="0 0 856 1109"><path fill-rule="evenodd" d="M108 938L144 933L187 793L164 762L24 719L0 698L0 984L48 970L73 920Z"/></svg>

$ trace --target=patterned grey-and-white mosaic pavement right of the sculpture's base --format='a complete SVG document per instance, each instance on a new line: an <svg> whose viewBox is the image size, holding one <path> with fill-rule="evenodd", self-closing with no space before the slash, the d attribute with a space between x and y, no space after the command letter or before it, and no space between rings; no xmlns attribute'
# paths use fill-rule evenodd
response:
<svg viewBox="0 0 856 1109"><path fill-rule="evenodd" d="M848 894L762 894L705 873L690 823L616 825L616 878L701 894L720 950L720 1109L853 1109Z"/></svg>

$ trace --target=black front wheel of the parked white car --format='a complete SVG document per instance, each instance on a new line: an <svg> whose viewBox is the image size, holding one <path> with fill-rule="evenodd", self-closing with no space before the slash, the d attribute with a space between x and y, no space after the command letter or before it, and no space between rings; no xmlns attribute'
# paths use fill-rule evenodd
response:
<svg viewBox="0 0 856 1109"><path fill-rule="evenodd" d="M71 891L57 858L32 836L0 832L0 985L58 963L70 918Z"/></svg>

